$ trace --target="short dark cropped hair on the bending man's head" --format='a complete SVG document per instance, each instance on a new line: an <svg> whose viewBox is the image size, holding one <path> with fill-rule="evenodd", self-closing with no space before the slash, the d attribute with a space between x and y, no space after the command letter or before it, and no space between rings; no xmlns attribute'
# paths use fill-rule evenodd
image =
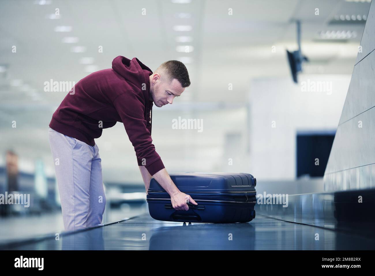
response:
<svg viewBox="0 0 375 276"><path fill-rule="evenodd" d="M163 62L155 72L165 72L169 76L169 82L174 78L177 79L182 87L190 85L189 73L187 72L186 66L178 60L168 60Z"/></svg>

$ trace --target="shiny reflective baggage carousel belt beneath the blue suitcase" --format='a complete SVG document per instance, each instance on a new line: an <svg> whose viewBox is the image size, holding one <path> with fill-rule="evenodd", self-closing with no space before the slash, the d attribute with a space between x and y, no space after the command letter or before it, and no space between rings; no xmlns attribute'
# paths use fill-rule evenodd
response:
<svg viewBox="0 0 375 276"><path fill-rule="evenodd" d="M175 223L148 213L69 235L2 244L6 250L363 250L375 239L258 215L249 223Z"/></svg>

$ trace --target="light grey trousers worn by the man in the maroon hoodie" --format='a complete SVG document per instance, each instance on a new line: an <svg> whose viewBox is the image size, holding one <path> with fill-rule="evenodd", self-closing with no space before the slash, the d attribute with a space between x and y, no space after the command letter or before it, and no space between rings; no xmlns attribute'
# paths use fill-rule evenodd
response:
<svg viewBox="0 0 375 276"><path fill-rule="evenodd" d="M99 148L48 127L65 231L102 223L105 195Z"/></svg>

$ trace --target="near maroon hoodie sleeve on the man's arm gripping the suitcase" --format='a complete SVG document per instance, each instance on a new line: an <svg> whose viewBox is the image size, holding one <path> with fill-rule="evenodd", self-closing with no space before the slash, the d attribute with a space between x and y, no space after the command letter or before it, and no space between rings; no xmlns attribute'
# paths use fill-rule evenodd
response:
<svg viewBox="0 0 375 276"><path fill-rule="evenodd" d="M145 106L142 97L129 90L118 95L114 99L113 105L120 115L127 136L134 147L138 165L142 166L142 159L144 158L145 167L150 175L154 175L165 168L155 150L155 146L152 144L150 130L148 129L149 124L144 119Z"/></svg>

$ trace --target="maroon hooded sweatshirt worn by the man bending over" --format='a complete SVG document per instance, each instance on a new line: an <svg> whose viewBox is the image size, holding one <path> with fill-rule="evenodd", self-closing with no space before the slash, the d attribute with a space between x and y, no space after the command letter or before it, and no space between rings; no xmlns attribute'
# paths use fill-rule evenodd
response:
<svg viewBox="0 0 375 276"><path fill-rule="evenodd" d="M75 84L53 113L49 127L94 146L103 128L121 122L134 146L138 165L142 166L145 158L146 169L154 175L164 165L151 139L151 74L151 69L136 57L116 57L112 69L93 72Z"/></svg>

